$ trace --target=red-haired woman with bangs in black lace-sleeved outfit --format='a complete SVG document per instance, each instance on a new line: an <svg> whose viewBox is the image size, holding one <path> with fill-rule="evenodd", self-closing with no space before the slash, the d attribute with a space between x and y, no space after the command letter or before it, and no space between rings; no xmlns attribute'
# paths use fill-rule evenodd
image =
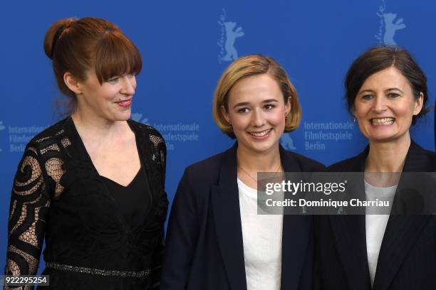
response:
<svg viewBox="0 0 436 290"><path fill-rule="evenodd" d="M158 288L166 149L159 132L129 119L140 53L100 18L54 23L44 50L73 112L26 146L6 274L36 274L45 237L44 289Z"/></svg>

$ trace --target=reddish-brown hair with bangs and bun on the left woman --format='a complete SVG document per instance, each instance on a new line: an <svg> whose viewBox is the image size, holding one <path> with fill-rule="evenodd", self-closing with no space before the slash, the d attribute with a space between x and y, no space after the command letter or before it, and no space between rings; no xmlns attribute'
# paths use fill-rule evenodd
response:
<svg viewBox="0 0 436 290"><path fill-rule="evenodd" d="M115 26L102 18L67 18L53 23L44 38L44 51L53 61L59 90L76 95L63 80L71 73L78 80L86 80L86 72L94 70L101 83L111 77L140 73L142 58L135 44Z"/></svg>

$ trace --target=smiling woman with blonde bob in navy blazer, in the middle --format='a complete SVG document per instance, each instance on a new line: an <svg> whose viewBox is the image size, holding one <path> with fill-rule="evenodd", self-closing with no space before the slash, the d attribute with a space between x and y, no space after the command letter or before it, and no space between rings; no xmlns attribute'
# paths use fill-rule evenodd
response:
<svg viewBox="0 0 436 290"><path fill-rule="evenodd" d="M273 58L244 56L219 79L213 114L237 142L185 170L160 289L311 289L311 217L257 215L256 204L258 172L323 169L279 144L301 120L294 86Z"/></svg>

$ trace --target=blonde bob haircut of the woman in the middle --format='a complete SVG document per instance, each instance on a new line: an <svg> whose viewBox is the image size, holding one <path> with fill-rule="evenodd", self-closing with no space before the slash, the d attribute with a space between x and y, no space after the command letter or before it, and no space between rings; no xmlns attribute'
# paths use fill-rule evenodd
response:
<svg viewBox="0 0 436 290"><path fill-rule="evenodd" d="M284 68L274 58L259 54L246 55L229 65L221 77L219 77L218 85L214 92L212 108L214 121L219 129L230 138L235 139L236 136L233 133L232 125L224 118L221 107L224 106L228 112L229 92L239 80L264 73L271 76L279 84L285 104L290 98L291 112L289 112L286 118L284 131L294 131L299 127L301 121L299 96L288 75L286 75Z"/></svg>

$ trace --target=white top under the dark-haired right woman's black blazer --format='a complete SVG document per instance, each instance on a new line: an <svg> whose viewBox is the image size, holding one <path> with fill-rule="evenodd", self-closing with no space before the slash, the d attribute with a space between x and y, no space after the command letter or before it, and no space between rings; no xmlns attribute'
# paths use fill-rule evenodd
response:
<svg viewBox="0 0 436 290"><path fill-rule="evenodd" d="M397 185L387 188L371 186L365 181L366 200L389 200L392 206ZM378 254L380 253L383 235L388 225L389 215L365 215L366 227L366 254L368 255L368 267L370 271L371 285L374 283L375 270L377 269Z"/></svg>

